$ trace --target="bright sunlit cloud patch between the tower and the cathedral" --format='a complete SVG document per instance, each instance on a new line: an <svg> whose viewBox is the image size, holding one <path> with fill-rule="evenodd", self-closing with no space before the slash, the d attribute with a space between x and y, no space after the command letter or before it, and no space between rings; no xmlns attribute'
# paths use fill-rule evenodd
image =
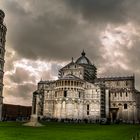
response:
<svg viewBox="0 0 140 140"><path fill-rule="evenodd" d="M13 69L5 73L4 102L31 105L32 92L36 89L37 83L41 79L57 79L60 67L62 66L56 62L28 59L15 61Z"/></svg>

